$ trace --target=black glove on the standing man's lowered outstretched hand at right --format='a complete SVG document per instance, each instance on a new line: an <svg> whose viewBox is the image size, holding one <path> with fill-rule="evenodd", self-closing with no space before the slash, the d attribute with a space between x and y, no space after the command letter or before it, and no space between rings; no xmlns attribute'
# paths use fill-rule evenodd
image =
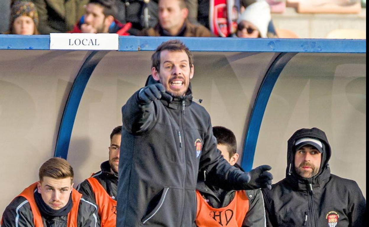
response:
<svg viewBox="0 0 369 227"><path fill-rule="evenodd" d="M271 170L272 167L268 165L258 166L255 169L250 170L249 174L251 180L247 183L247 185L252 188L268 188L272 189L272 179L273 175L268 171Z"/></svg>

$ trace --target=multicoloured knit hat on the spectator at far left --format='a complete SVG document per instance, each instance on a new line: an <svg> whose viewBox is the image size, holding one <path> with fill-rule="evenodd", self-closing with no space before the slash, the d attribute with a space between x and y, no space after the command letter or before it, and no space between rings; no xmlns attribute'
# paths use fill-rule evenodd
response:
<svg viewBox="0 0 369 227"><path fill-rule="evenodd" d="M13 3L13 6L11 7L11 25L13 25L14 20L17 17L20 16L27 16L33 19L35 22L35 26L38 26L38 13L37 9L35 7L35 4L33 4L31 1L25 1L25 0L16 0Z"/></svg>

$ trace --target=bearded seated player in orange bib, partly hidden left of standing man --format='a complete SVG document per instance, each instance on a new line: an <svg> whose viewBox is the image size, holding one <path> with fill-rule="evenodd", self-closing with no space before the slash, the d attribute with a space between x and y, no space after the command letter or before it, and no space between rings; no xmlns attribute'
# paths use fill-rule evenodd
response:
<svg viewBox="0 0 369 227"><path fill-rule="evenodd" d="M96 203L102 227L115 227L117 218L117 185L119 148L122 126L110 134L109 160L101 163L101 170L78 185L77 190Z"/></svg>

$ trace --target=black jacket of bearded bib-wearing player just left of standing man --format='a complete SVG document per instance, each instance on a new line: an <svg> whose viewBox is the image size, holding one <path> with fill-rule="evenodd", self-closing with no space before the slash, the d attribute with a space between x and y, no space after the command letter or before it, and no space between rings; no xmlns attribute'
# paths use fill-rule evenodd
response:
<svg viewBox="0 0 369 227"><path fill-rule="evenodd" d="M117 200L118 176L111 173L109 161L105 161L100 165L100 171L93 174L92 177L103 186L105 191L114 200ZM90 183L85 180L77 186L77 191L82 194L88 201L96 203L95 194L92 191Z"/></svg>

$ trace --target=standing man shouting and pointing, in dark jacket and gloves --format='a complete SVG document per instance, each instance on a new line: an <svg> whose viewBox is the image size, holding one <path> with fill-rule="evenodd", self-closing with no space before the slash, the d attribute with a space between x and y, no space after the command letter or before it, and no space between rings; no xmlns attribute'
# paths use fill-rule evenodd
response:
<svg viewBox="0 0 369 227"><path fill-rule="evenodd" d="M193 102L189 49L169 40L151 59L147 86L122 107L117 226L195 226L199 171L224 189L270 187L270 166L245 173L217 150L210 116Z"/></svg>

